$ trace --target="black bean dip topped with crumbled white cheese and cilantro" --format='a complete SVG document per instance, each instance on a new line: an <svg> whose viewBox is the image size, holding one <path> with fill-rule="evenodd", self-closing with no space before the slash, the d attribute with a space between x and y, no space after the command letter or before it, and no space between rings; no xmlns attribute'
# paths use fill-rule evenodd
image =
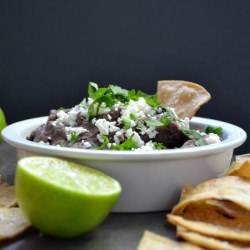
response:
<svg viewBox="0 0 250 250"><path fill-rule="evenodd" d="M219 143L215 130L192 130L163 107L156 95L90 83L87 98L73 108L51 110L47 122L27 139L60 147L108 150L163 150ZM218 131L218 130L217 130ZM220 130L221 132L221 130Z"/></svg>

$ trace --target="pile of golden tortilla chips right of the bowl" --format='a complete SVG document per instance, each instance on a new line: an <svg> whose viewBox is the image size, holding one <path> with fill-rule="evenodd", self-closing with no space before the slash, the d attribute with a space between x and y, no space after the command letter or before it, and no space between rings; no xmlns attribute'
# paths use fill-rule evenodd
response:
<svg viewBox="0 0 250 250"><path fill-rule="evenodd" d="M250 154L236 156L223 177L185 185L167 221L180 241L145 232L138 250L250 249Z"/></svg>

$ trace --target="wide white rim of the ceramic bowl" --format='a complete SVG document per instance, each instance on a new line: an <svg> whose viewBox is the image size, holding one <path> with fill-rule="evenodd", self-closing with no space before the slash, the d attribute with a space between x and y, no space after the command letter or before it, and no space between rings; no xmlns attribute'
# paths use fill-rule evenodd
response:
<svg viewBox="0 0 250 250"><path fill-rule="evenodd" d="M204 117L193 117L191 124L210 125L222 127L224 139L221 143L211 144L201 147L178 148L168 150L152 151L113 151L113 150L94 150L63 148L32 142L26 136L42 123L47 121L48 116L36 117L12 123L2 130L3 139L11 146L33 153L49 154L58 157L69 157L74 159L95 159L95 160L156 160L156 159L176 159L192 158L197 156L209 155L235 149L242 145L247 139L246 132L231 123L214 120ZM26 133L25 133L26 131ZM29 131L29 133L27 133Z"/></svg>

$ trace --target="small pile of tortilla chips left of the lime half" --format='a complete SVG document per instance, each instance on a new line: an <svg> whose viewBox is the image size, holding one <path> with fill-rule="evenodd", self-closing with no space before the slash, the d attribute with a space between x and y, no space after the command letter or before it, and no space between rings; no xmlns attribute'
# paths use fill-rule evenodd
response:
<svg viewBox="0 0 250 250"><path fill-rule="evenodd" d="M14 186L0 178L0 241L16 237L30 226L17 205Z"/></svg>

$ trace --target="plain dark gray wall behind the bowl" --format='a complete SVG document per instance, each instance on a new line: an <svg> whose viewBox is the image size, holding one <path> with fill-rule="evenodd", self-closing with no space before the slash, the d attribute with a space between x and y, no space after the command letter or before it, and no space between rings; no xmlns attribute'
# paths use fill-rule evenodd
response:
<svg viewBox="0 0 250 250"><path fill-rule="evenodd" d="M154 93L183 79L212 95L197 115L249 131L248 0L6 0L0 28L8 123L73 106L89 81Z"/></svg>

